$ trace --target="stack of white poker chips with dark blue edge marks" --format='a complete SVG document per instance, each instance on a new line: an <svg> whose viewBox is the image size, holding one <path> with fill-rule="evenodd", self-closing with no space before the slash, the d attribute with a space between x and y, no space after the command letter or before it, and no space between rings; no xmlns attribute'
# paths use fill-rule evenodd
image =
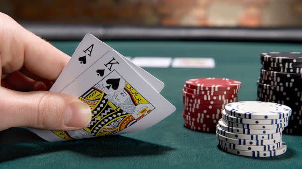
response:
<svg viewBox="0 0 302 169"><path fill-rule="evenodd" d="M273 157L286 152L282 131L290 107L261 101L233 102L225 106L216 126L219 147L232 154Z"/></svg>

